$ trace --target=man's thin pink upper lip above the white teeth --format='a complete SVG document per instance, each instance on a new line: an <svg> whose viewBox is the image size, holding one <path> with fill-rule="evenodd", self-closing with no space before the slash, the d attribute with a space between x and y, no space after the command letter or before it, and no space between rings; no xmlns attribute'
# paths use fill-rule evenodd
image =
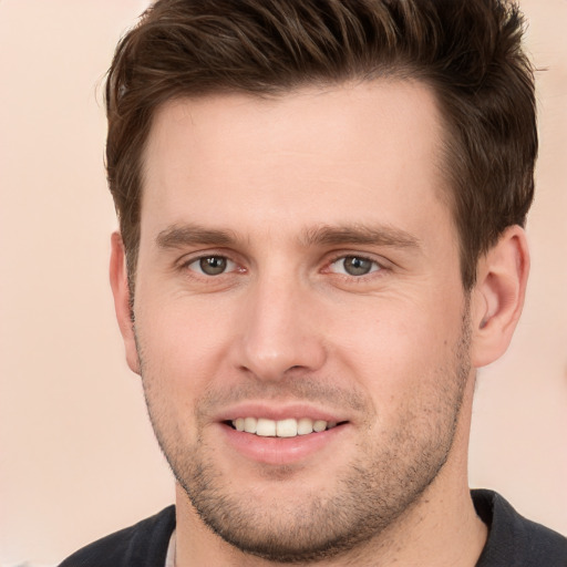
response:
<svg viewBox="0 0 567 567"><path fill-rule="evenodd" d="M310 403L275 404L274 402L245 402L223 409L215 415L216 421L231 421L238 417L264 417L267 420L280 421L293 417L309 417L313 421L327 422L349 421L336 410L317 408Z"/></svg>

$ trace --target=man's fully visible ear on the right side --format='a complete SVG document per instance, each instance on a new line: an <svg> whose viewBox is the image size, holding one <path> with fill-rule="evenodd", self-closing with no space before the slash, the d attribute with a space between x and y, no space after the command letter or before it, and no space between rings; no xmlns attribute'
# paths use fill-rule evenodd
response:
<svg viewBox="0 0 567 567"><path fill-rule="evenodd" d="M508 348L524 307L528 272L526 234L511 226L478 261L471 311L475 368L494 362Z"/></svg>

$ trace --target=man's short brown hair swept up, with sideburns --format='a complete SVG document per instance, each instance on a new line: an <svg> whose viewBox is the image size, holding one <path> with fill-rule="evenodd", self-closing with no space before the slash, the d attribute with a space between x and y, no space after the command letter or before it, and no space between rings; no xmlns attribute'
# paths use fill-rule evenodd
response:
<svg viewBox="0 0 567 567"><path fill-rule="evenodd" d="M109 71L106 167L131 285L142 155L156 109L217 92L279 95L308 84L416 79L437 99L463 286L534 194L534 73L505 0L158 0Z"/></svg>

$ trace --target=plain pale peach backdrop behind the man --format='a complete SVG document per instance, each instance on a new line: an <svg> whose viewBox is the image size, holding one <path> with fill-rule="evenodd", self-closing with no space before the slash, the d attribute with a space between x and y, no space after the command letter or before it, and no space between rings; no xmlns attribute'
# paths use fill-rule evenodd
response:
<svg viewBox="0 0 567 567"><path fill-rule="evenodd" d="M0 0L0 565L56 564L173 502L107 285L102 81L145 6ZM522 6L547 69L533 270L509 352L480 373L471 484L567 534L567 1Z"/></svg>

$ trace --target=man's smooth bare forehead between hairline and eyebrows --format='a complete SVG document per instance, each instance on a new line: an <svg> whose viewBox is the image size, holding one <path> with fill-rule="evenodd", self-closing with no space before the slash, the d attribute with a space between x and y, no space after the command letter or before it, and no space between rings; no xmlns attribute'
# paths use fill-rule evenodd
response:
<svg viewBox="0 0 567 567"><path fill-rule="evenodd" d="M145 148L142 234L195 221L420 224L444 208L441 142L434 95L417 82L172 101Z"/></svg>

